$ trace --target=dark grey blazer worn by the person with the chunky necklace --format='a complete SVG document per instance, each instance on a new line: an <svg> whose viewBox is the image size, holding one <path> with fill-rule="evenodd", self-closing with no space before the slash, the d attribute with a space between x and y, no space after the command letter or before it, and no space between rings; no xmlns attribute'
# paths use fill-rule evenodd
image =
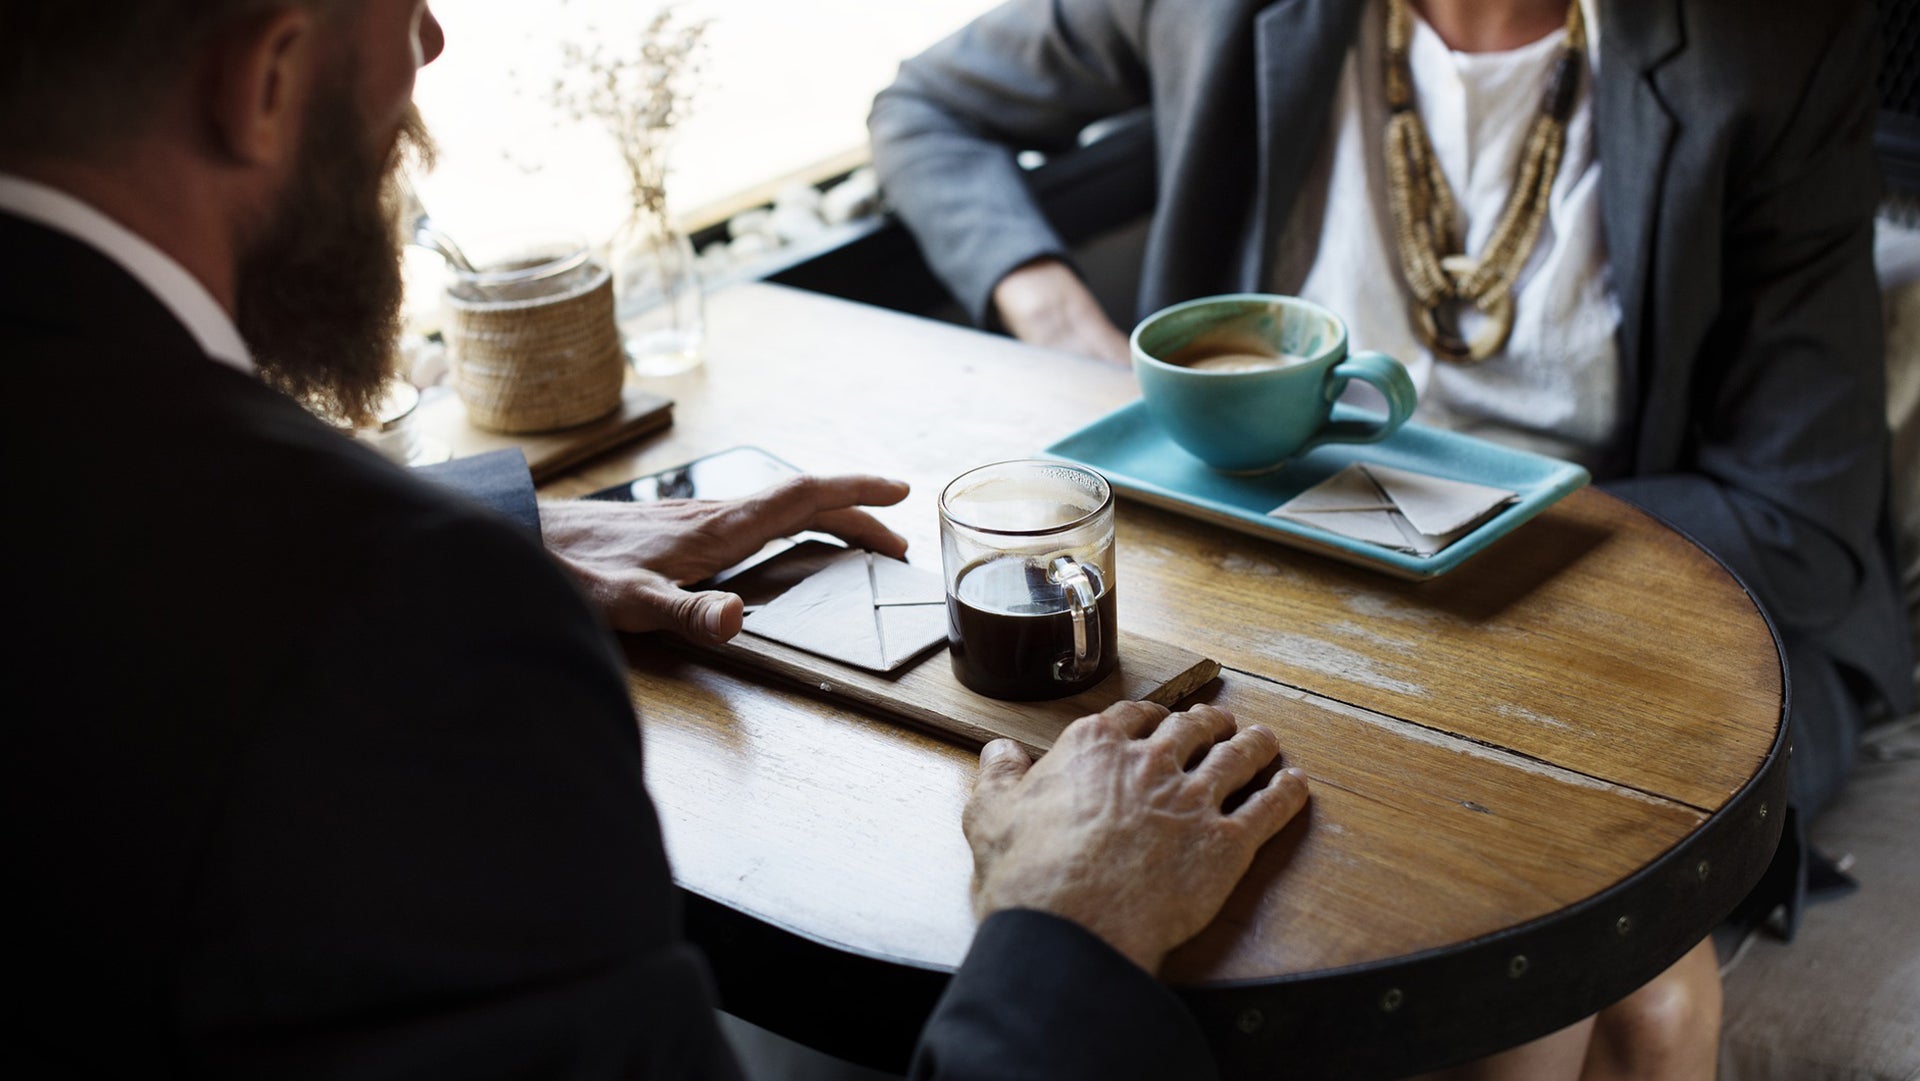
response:
<svg viewBox="0 0 1920 1081"><path fill-rule="evenodd" d="M874 102L887 198L983 317L1064 255L1008 146L1150 106L1140 313L1258 290L1363 0L1014 0ZM1868 685L1910 697L1891 574L1862 2L1601 0L1594 109L1626 438L1607 486L1718 555L1782 632L1795 789L1851 762ZM1853 693L1849 693L1853 691ZM1839 710L1839 716L1836 716Z"/></svg>

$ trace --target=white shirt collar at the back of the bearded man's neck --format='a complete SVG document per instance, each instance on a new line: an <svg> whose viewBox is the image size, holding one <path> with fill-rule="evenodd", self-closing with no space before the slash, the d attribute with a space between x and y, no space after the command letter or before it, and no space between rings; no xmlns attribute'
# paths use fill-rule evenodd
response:
<svg viewBox="0 0 1920 1081"><path fill-rule="evenodd" d="M167 305L209 357L253 372L253 355L227 309L200 278L140 234L60 188L8 173L0 173L0 211L63 232L113 259Z"/></svg>

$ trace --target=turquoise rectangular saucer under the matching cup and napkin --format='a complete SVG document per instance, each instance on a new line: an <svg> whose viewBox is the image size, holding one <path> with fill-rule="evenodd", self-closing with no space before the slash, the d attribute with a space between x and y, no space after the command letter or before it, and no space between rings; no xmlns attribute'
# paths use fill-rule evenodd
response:
<svg viewBox="0 0 1920 1081"><path fill-rule="evenodd" d="M1334 409L1346 413L1344 405ZM1588 472L1574 463L1411 422L1379 444L1327 444L1261 476L1227 476L1167 440L1142 401L1108 413L1044 453L1100 470L1116 492L1140 503L1413 580L1453 570L1588 482ZM1519 499L1425 557L1267 516L1356 461L1492 484Z"/></svg>

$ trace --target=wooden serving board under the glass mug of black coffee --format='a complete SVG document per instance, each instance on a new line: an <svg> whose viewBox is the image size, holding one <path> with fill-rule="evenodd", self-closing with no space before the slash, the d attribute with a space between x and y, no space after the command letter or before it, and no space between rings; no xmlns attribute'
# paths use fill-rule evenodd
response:
<svg viewBox="0 0 1920 1081"><path fill-rule="evenodd" d="M945 647L885 676L753 634L741 634L720 647L691 649L804 684L822 695L950 735L968 747L977 749L1004 735L1035 757L1052 747L1060 730L1075 718L1117 701L1154 701L1171 709L1219 676L1217 662L1125 628L1119 632L1119 666L1112 676L1073 697L1046 703L1002 703L966 689L954 678Z"/></svg>

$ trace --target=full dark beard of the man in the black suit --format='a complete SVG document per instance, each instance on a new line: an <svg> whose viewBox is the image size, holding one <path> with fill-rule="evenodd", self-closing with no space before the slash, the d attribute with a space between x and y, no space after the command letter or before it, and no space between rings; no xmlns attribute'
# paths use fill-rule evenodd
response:
<svg viewBox="0 0 1920 1081"><path fill-rule="evenodd" d="M371 422L399 338L399 234L390 198L405 154L432 148L419 113L382 159L353 73L315 92L294 177L240 257L236 323L261 378L309 409Z"/></svg>

